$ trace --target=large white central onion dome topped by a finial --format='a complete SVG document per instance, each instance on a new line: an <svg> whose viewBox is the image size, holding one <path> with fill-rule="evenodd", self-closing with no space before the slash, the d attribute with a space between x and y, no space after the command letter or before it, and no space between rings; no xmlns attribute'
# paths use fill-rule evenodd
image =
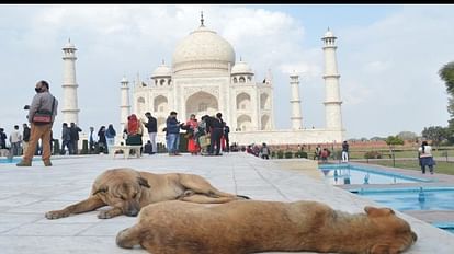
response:
<svg viewBox="0 0 454 254"><path fill-rule="evenodd" d="M178 45L172 56L172 69L178 72L228 71L235 64L230 43L216 32L201 25Z"/></svg>

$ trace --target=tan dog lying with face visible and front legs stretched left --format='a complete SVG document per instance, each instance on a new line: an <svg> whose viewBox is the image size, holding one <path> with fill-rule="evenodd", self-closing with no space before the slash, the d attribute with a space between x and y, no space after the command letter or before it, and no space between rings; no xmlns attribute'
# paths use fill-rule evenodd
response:
<svg viewBox="0 0 454 254"><path fill-rule="evenodd" d="M120 215L137 216L140 208L151 203L174 199L218 204L248 197L220 192L195 174L152 174L133 169L113 169L97 177L89 198L63 210L48 211L45 216L47 219L58 219L103 206L111 206L112 209L101 211L98 215L100 219Z"/></svg>

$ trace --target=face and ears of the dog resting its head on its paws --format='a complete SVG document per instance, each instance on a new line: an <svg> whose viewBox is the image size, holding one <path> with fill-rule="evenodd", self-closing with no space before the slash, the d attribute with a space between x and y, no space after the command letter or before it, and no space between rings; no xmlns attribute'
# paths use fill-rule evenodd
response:
<svg viewBox="0 0 454 254"><path fill-rule="evenodd" d="M143 188L150 188L147 180L140 176L115 177L100 185L93 195L102 195L107 205L121 208L126 216L137 216L140 211Z"/></svg>

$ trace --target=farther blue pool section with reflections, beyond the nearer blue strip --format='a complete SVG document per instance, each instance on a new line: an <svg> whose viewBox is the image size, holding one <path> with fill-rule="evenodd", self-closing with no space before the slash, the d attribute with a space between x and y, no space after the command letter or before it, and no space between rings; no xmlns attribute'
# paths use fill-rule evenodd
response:
<svg viewBox="0 0 454 254"><path fill-rule="evenodd" d="M324 164L319 169L325 180L333 185L343 184L398 184L431 182L430 180L384 172L377 168L352 164Z"/></svg>

